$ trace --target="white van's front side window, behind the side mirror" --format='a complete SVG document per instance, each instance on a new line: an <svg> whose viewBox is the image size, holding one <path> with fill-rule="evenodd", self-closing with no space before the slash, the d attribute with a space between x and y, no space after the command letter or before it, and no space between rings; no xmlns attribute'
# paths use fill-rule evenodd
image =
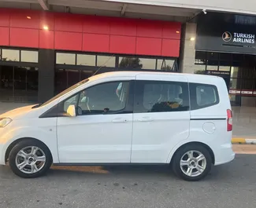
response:
<svg viewBox="0 0 256 208"><path fill-rule="evenodd" d="M107 82L92 86L65 100L63 110L76 105L77 115L98 115L123 111L128 100L129 82Z"/></svg>

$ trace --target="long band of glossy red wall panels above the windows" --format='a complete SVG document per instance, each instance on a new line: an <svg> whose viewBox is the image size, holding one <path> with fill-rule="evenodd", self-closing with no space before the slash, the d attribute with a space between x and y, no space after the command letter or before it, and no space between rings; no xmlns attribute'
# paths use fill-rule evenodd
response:
<svg viewBox="0 0 256 208"><path fill-rule="evenodd" d="M168 21L0 9L0 46L179 57L180 28Z"/></svg>

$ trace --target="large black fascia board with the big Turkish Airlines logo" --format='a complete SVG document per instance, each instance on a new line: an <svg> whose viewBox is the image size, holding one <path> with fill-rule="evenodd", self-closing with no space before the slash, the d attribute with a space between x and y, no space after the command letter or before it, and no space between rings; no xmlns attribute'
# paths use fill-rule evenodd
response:
<svg viewBox="0 0 256 208"><path fill-rule="evenodd" d="M208 15L208 14L207 14ZM198 20L195 49L256 54L256 27L223 20ZM213 15L212 15L213 16Z"/></svg>

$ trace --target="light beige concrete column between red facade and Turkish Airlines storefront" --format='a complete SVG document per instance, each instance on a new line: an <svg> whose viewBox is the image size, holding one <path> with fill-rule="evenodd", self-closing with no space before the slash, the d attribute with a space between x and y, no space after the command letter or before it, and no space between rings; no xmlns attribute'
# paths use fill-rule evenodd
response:
<svg viewBox="0 0 256 208"><path fill-rule="evenodd" d="M186 23L182 27L180 43L180 72L194 74L196 24ZM194 38L191 39L191 38Z"/></svg>

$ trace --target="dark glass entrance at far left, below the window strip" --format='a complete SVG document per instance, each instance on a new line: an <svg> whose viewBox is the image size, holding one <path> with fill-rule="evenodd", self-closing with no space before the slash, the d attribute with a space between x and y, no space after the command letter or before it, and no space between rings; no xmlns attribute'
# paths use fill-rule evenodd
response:
<svg viewBox="0 0 256 208"><path fill-rule="evenodd" d="M38 68L0 66L0 101L36 103L38 80Z"/></svg>

